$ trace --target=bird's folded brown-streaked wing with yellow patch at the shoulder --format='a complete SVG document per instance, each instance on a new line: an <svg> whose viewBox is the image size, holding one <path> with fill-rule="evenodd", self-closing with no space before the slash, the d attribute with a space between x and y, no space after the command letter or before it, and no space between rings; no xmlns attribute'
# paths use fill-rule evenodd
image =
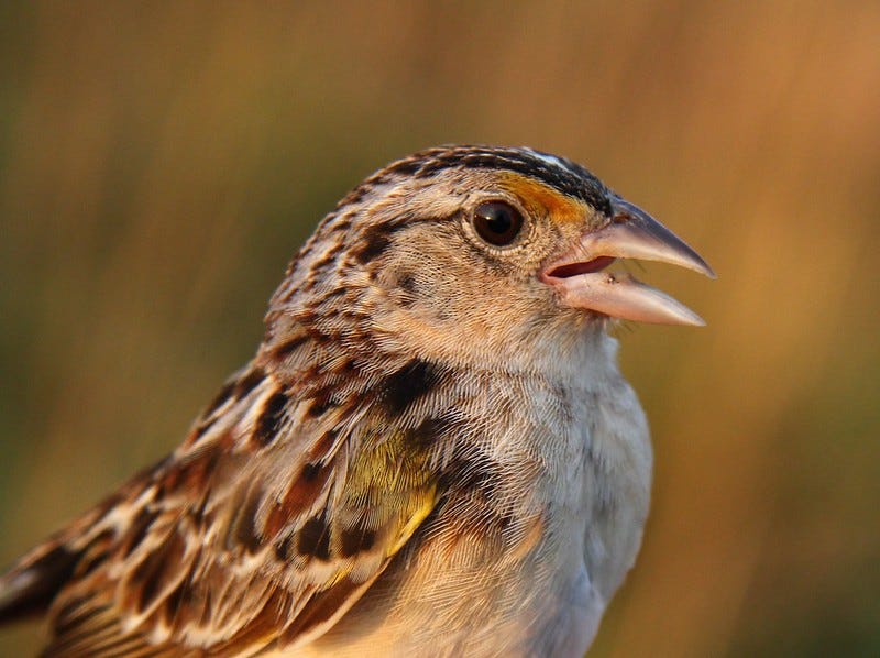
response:
<svg viewBox="0 0 880 658"><path fill-rule="evenodd" d="M246 656L331 628L438 496L427 451L353 405L239 373L172 458L37 549L76 557L22 597L52 601L46 655Z"/></svg>

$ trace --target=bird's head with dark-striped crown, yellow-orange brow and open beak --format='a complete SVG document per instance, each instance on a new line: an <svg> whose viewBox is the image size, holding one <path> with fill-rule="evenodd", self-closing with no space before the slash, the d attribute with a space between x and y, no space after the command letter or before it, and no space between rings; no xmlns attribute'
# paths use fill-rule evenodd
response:
<svg viewBox="0 0 880 658"><path fill-rule="evenodd" d="M378 352L529 369L542 346L558 359L584 336L604 337L608 320L703 323L608 271L629 259L714 276L573 162L529 149L431 149L340 201L292 264L270 329L293 320Z"/></svg>

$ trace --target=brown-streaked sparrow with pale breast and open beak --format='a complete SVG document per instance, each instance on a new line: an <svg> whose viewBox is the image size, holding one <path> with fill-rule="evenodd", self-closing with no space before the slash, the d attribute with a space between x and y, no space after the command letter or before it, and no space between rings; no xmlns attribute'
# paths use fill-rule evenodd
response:
<svg viewBox="0 0 880 658"><path fill-rule="evenodd" d="M447 145L318 224L183 443L0 577L44 655L582 656L634 564L652 448L620 323L714 277L575 162Z"/></svg>

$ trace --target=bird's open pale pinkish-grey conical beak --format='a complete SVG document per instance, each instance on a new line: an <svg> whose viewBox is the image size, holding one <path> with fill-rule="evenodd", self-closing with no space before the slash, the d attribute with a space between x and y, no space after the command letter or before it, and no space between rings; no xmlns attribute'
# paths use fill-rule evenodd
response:
<svg viewBox="0 0 880 658"><path fill-rule="evenodd" d="M639 259L715 278L712 267L693 249L650 215L617 197L612 199L612 209L607 226L584 233L574 249L544 268L541 278L560 292L563 304L574 308L638 322L705 325L666 293L627 274L603 272L617 259Z"/></svg>

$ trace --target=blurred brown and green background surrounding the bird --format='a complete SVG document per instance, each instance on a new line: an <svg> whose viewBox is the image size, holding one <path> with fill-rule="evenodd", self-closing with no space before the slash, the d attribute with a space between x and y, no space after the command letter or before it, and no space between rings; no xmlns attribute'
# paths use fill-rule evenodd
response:
<svg viewBox="0 0 880 658"><path fill-rule="evenodd" d="M591 655L880 655L878 34L876 1L3 2L0 563L183 439L361 178L526 144L719 274L648 267L708 327L620 332L654 502Z"/></svg>

